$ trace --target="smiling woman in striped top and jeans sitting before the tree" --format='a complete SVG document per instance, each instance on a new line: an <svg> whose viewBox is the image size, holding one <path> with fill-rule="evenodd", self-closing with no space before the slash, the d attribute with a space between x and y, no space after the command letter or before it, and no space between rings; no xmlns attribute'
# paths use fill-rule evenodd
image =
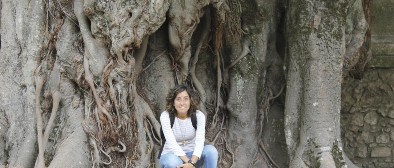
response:
<svg viewBox="0 0 394 168"><path fill-rule="evenodd" d="M160 167L216 168L217 150L212 145L204 146L205 116L197 110L197 102L198 97L188 86L178 85L169 91L160 116L165 137Z"/></svg>

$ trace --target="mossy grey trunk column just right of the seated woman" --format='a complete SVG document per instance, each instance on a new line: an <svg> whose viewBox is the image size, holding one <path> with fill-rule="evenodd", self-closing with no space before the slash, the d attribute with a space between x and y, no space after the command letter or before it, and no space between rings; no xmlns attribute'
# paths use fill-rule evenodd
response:
<svg viewBox="0 0 394 168"><path fill-rule="evenodd" d="M234 167L244 167L245 164L253 162L254 153L258 148L259 118L264 119L264 115L258 110L262 108L262 94L257 93L264 93L266 68L275 59L275 55L269 55L268 47L269 40L274 40L273 35L276 35L276 18L265 18L264 15L275 16L275 8L276 1L242 3L242 10L246 11L241 16L242 29L247 35L244 35L241 44L229 43L230 61L235 60L241 51L249 50L249 54L240 60L229 74L227 109L230 113L230 142L233 152L236 153L233 156L236 158ZM245 44L247 47L241 48L241 45Z"/></svg>

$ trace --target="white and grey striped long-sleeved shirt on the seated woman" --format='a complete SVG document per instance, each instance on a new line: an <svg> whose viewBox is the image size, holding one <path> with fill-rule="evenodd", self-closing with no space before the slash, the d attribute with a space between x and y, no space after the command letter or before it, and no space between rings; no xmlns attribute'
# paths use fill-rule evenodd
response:
<svg viewBox="0 0 394 168"><path fill-rule="evenodd" d="M185 120L175 117L173 128L169 119L169 113L163 111L160 115L160 122L165 137L165 144L162 155L165 153L174 153L177 156L184 156L186 152L194 150L193 155L201 158L205 141L205 115L197 110L197 130L191 124L188 117ZM182 140L186 140L186 144L182 144Z"/></svg>

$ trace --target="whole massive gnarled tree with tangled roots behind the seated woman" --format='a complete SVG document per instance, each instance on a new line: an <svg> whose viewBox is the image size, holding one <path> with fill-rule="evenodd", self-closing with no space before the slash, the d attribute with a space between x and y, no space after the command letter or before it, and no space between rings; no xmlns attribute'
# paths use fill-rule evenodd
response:
<svg viewBox="0 0 394 168"><path fill-rule="evenodd" d="M363 59L360 5L3 0L0 167L158 167L158 119L176 84L199 94L219 167L288 166L287 154L290 167L351 167L340 83ZM287 153L267 137L284 134L283 108Z"/></svg>

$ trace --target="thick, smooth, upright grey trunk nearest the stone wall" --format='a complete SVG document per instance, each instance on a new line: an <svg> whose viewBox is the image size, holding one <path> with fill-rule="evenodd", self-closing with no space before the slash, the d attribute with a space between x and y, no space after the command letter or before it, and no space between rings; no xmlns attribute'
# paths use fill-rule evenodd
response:
<svg viewBox="0 0 394 168"><path fill-rule="evenodd" d="M349 1L290 0L285 67L290 167L355 167L342 150L339 122L349 5Z"/></svg>

